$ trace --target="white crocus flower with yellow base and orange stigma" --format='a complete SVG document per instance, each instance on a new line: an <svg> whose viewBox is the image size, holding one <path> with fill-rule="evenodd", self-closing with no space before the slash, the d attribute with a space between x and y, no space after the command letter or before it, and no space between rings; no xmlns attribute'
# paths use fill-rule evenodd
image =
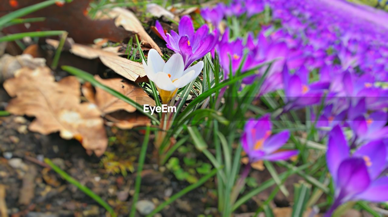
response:
<svg viewBox="0 0 388 217"><path fill-rule="evenodd" d="M179 88L186 86L201 73L203 61L184 70L182 55L175 53L165 62L155 49L148 52L147 64L143 67L148 79L158 88L163 104L167 104Z"/></svg>

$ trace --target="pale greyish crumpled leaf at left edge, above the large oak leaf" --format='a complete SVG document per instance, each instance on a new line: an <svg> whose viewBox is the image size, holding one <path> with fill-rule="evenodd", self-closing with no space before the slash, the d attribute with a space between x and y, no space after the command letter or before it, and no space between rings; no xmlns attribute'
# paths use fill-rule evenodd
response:
<svg viewBox="0 0 388 217"><path fill-rule="evenodd" d="M46 60L43 58L33 58L29 54L11 56L4 54L0 58L0 82L14 76L14 73L22 67L35 69L46 65Z"/></svg>

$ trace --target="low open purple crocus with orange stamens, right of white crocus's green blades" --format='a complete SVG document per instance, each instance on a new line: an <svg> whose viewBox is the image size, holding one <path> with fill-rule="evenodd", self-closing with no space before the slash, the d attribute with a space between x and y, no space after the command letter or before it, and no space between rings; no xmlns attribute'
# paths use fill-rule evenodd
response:
<svg viewBox="0 0 388 217"><path fill-rule="evenodd" d="M282 131L272 136L271 134L272 123L269 115L264 115L258 120L248 120L241 136L241 146L248 155L249 163L258 160L287 160L298 154L298 150L279 152L281 146L290 137L289 131Z"/></svg>

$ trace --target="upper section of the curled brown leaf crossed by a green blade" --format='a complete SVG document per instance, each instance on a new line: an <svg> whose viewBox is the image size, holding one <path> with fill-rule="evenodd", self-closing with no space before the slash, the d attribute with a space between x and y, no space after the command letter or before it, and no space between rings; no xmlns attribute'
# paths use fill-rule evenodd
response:
<svg viewBox="0 0 388 217"><path fill-rule="evenodd" d="M126 82L121 78L102 79L98 75L95 75L94 78L100 83L134 100L140 105L148 104L155 106L155 101L144 92L143 88L134 83ZM132 105L124 102L123 100L120 100L116 96L113 96L100 88L96 88L96 93L93 96L93 90L90 90L90 88L90 85L84 85L82 87L82 93L89 100L89 102L96 104L103 114L115 112L118 110L125 110L130 113L136 111L136 108Z"/></svg>

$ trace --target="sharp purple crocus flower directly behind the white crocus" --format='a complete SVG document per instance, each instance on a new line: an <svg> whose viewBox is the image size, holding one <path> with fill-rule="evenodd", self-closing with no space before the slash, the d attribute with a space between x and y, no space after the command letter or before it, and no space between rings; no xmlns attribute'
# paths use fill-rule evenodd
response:
<svg viewBox="0 0 388 217"><path fill-rule="evenodd" d="M166 46L175 53L179 53L183 57L185 69L187 69L194 61L201 59L209 53L218 42L219 33L214 30L209 33L208 25L203 25L196 32L191 18L187 15L180 19L178 25L179 34L171 30L171 34L165 33L163 27L156 21L156 29L162 38L167 42Z"/></svg>

